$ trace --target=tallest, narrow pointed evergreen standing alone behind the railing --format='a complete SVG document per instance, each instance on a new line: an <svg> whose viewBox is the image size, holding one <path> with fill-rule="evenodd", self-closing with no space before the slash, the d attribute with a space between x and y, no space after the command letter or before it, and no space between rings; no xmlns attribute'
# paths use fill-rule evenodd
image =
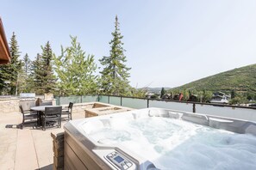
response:
<svg viewBox="0 0 256 170"><path fill-rule="evenodd" d="M101 88L104 94L127 95L130 86L128 85L128 68L123 52L122 34L119 29L119 22L116 15L115 31L112 33L113 39L109 42L110 55L100 59L100 63L104 66L101 73Z"/></svg>

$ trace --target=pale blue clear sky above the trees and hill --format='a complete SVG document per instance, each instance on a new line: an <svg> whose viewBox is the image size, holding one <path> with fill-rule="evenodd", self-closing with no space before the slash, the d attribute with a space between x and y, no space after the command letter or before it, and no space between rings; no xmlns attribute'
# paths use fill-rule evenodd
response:
<svg viewBox="0 0 256 170"><path fill-rule="evenodd" d="M53 52L78 36L85 52L109 55L118 15L134 87L177 87L256 63L256 1L2 0L8 39L34 59L50 41Z"/></svg>

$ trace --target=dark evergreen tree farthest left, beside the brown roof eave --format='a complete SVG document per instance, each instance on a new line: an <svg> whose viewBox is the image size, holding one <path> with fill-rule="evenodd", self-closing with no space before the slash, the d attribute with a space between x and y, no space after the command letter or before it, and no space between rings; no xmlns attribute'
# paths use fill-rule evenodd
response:
<svg viewBox="0 0 256 170"><path fill-rule="evenodd" d="M18 76L22 69L22 62L19 59L21 52L19 52L15 33L10 39L9 52L11 55L10 63L0 67L0 89L1 92L6 91L7 94L17 94Z"/></svg>

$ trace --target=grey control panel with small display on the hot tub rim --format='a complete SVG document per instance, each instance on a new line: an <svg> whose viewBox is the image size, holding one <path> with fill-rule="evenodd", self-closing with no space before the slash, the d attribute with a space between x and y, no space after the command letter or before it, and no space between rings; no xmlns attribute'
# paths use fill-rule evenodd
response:
<svg viewBox="0 0 256 170"><path fill-rule="evenodd" d="M119 169L126 170L126 169L134 169L135 167L132 161L129 161L128 158L126 158L125 156L121 155L116 151L111 152L104 157Z"/></svg>

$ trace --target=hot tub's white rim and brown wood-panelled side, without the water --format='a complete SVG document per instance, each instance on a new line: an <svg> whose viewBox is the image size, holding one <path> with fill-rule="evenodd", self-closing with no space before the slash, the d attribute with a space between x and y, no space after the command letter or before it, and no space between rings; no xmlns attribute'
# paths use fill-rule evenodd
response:
<svg viewBox="0 0 256 170"><path fill-rule="evenodd" d="M78 119L70 121L65 125L65 169L122 169L107 158L109 153L114 152L132 163L132 167L127 169L153 168L153 163L145 160L145 158L135 155L128 149L118 146L118 144L111 146L98 143L80 128L81 124L88 124L94 120L106 121L118 117L125 119L143 117L177 118L216 129L233 131L235 133L250 133L256 136L255 122L160 108L147 108L101 117Z"/></svg>

